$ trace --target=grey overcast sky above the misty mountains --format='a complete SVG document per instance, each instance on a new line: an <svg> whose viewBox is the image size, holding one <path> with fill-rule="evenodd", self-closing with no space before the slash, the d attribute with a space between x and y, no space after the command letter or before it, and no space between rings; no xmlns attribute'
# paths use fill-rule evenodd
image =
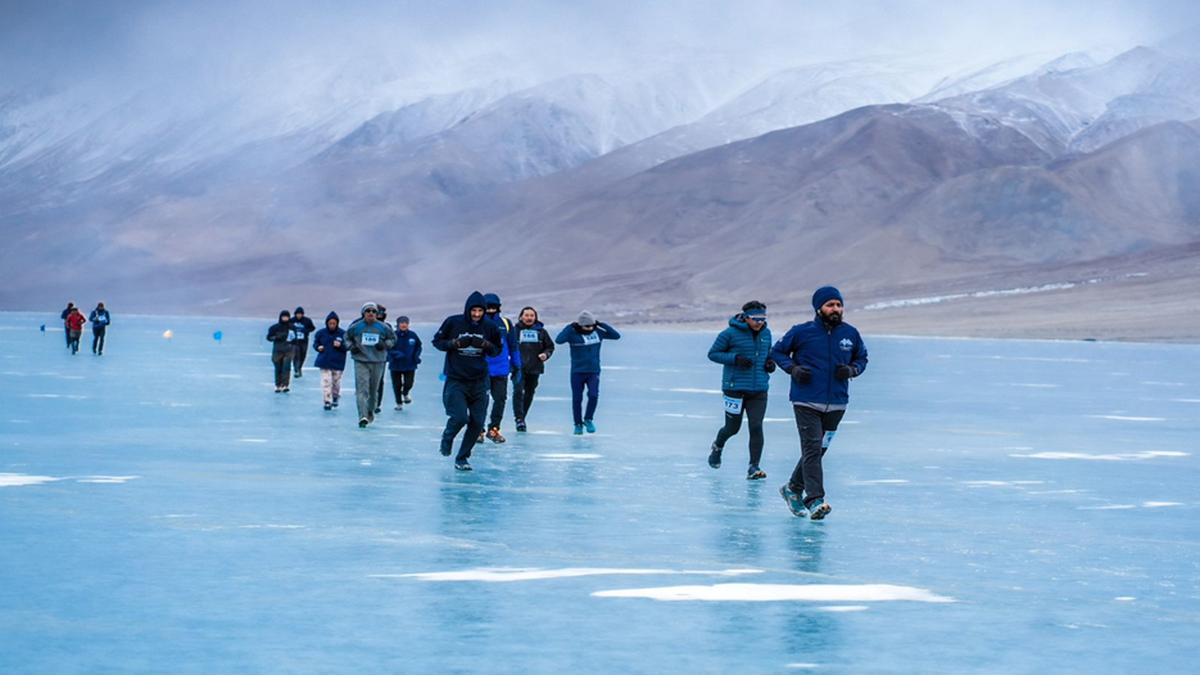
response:
<svg viewBox="0 0 1200 675"><path fill-rule="evenodd" d="M136 85L161 77L253 82L289 68L304 79L306 68L320 65L373 70L377 77L450 77L463 62L474 64L476 77L602 72L646 62L647 53L780 64L944 53L979 61L1151 44L1200 24L1198 6L1189 0L0 0L0 88L96 79Z"/></svg>

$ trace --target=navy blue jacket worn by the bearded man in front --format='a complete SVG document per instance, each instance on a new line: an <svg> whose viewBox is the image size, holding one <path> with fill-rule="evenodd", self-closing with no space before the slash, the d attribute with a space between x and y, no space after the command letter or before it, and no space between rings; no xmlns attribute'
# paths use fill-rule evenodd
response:
<svg viewBox="0 0 1200 675"><path fill-rule="evenodd" d="M850 402L850 381L838 380L834 371L839 365L848 365L854 377L862 375L866 370L866 345L858 329L848 323L830 328L814 319L793 325L775 342L770 358L785 372L791 372L794 365L812 371L808 384L791 381L788 399L793 404L845 407Z"/></svg>

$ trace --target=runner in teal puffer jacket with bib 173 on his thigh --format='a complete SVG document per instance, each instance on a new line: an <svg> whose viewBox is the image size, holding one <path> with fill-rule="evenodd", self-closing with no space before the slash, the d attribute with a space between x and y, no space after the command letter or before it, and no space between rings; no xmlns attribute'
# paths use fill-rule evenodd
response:
<svg viewBox="0 0 1200 675"><path fill-rule="evenodd" d="M750 300L730 325L716 336L708 359L722 364L721 393L725 395L725 426L716 432L709 449L708 466L720 468L725 442L742 429L742 416L750 420L750 467L746 479L766 478L758 468L762 461L762 419L767 414L767 390L775 362L770 359L770 329L767 305Z"/></svg>

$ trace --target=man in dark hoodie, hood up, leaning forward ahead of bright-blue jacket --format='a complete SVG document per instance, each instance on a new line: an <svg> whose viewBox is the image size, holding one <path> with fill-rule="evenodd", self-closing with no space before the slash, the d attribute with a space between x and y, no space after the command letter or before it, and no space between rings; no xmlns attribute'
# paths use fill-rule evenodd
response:
<svg viewBox="0 0 1200 675"><path fill-rule="evenodd" d="M442 432L442 454L450 456L454 437L467 428L455 456L454 467L470 471L470 450L484 430L487 416L487 357L500 353L503 336L491 321L484 319L484 294L472 292L461 315L448 316L433 335L433 346L446 353L443 375L442 402L445 405L446 428Z"/></svg>

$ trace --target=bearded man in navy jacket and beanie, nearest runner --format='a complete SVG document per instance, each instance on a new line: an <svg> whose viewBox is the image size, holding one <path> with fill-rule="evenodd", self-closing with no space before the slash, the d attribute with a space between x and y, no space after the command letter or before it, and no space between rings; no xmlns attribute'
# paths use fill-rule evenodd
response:
<svg viewBox="0 0 1200 675"><path fill-rule="evenodd" d="M842 321L841 292L822 286L812 293L816 316L793 325L772 348L770 358L791 376L788 399L800 432L800 461L780 486L787 507L821 520L832 510L824 501L821 460L838 432L850 404L850 381L866 370L866 345L858 330Z"/></svg>

